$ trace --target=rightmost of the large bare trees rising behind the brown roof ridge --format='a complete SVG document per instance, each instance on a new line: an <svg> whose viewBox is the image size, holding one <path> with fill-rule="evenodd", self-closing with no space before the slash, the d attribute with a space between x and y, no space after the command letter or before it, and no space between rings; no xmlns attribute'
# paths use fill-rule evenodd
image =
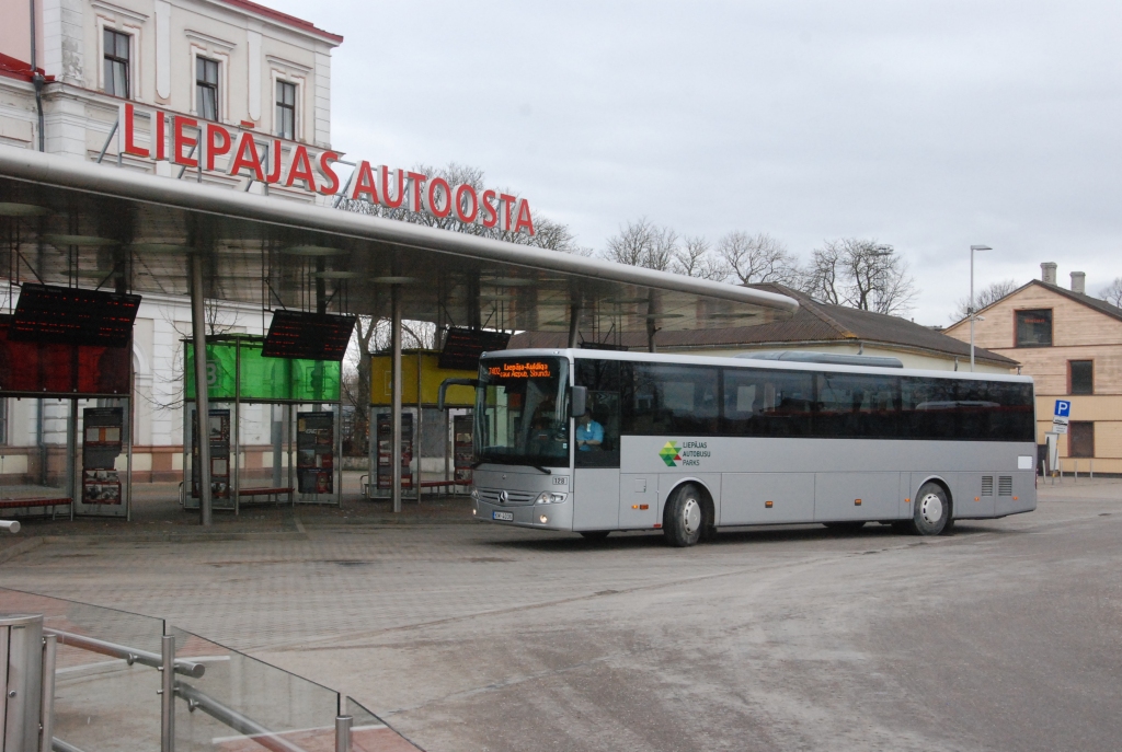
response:
<svg viewBox="0 0 1122 752"><path fill-rule="evenodd" d="M803 289L824 303L880 314L911 310L918 294L908 263L891 245L855 238L816 249L802 281Z"/></svg>

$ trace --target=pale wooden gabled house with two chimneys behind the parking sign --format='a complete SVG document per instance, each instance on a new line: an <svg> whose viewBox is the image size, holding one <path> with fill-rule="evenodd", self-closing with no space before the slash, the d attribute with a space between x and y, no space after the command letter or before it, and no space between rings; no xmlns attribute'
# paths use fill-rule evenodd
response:
<svg viewBox="0 0 1122 752"><path fill-rule="evenodd" d="M978 312L974 342L1021 363L1037 382L1037 442L1051 430L1057 399L1072 401L1070 427L1060 437L1064 468L1122 473L1122 308L1085 293L1085 276L1072 272L1072 289L1056 284L1056 264L1042 279ZM969 341L969 319L946 334ZM1078 465L1076 465L1078 463Z"/></svg>

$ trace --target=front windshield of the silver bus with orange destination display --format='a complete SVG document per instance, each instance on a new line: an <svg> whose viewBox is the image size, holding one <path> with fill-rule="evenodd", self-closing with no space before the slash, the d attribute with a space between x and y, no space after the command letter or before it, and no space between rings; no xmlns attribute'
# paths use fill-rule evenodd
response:
<svg viewBox="0 0 1122 752"><path fill-rule="evenodd" d="M569 465L569 363L561 358L485 360L476 390L477 463Z"/></svg>

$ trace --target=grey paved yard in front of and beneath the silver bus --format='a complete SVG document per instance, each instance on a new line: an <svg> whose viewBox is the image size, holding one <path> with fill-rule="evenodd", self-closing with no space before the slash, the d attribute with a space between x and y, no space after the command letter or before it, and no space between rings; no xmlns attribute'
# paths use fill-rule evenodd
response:
<svg viewBox="0 0 1122 752"><path fill-rule="evenodd" d="M118 526L48 538L0 579L166 616L431 751L1122 746L1122 481L1045 486L1031 514L937 539L809 527L691 549L427 507L425 524L300 509L263 521L272 539Z"/></svg>

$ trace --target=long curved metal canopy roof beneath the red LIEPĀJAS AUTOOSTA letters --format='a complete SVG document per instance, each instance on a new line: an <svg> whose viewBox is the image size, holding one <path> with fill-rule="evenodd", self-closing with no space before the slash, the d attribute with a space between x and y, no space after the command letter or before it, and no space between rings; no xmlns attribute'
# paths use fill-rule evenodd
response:
<svg viewBox="0 0 1122 752"><path fill-rule="evenodd" d="M0 147L0 275L16 281L187 295L201 254L208 297L263 308L403 317L451 326L594 332L764 324L790 297Z"/></svg>

